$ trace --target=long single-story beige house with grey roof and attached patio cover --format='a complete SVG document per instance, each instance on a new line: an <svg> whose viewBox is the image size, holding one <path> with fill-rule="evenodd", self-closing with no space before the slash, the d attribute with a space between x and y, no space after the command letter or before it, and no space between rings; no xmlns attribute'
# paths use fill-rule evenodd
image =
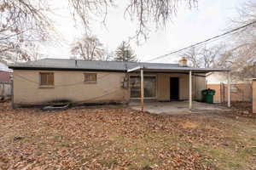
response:
<svg viewBox="0 0 256 170"><path fill-rule="evenodd" d="M9 65L13 69L13 104L45 105L123 102L131 100L201 100L206 74L221 69L193 68L186 59L177 64L39 59ZM230 75L230 74L229 74ZM142 90L143 89L143 90ZM142 93L141 93L142 92Z"/></svg>

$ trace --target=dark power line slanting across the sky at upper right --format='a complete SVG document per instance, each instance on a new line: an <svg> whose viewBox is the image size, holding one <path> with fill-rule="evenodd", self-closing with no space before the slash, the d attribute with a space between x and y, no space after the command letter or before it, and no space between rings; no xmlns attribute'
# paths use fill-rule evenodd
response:
<svg viewBox="0 0 256 170"><path fill-rule="evenodd" d="M247 27L247 26L252 26L252 25L255 24L255 23L256 23L256 20L253 21L253 22L251 22L251 23L248 23L247 25L240 26L240 27L238 27L238 28L236 28L236 29L234 29L234 30L226 31L226 32L224 32L223 34L220 34L220 35L218 35L218 36L208 38L208 39L205 40L205 41L197 42L197 43L192 44L192 45L190 45L190 46L188 46L188 47L186 47L186 48L181 48L181 49L178 49L178 50L173 51L173 52L171 52L171 53L163 54L163 55L160 55L160 56L158 56L158 57L154 57L153 59L149 59L149 60L147 60L147 61L152 61L152 60L155 60L155 59L161 59L161 58L164 58L164 57L166 57L166 56L168 56L168 55L171 55L171 54L177 54L177 53L179 53L179 52L181 52L181 51L183 51L183 50L185 50L185 49L193 48L193 47L198 46L198 45L201 45L201 44L203 44L203 43L205 43L205 42L210 42L210 41L212 41L212 40L214 40L214 39L216 39L216 38L218 38L218 37L224 37L224 36L226 36L226 35L228 35L228 34L234 32L234 31L241 30L242 28L245 28L245 27Z"/></svg>

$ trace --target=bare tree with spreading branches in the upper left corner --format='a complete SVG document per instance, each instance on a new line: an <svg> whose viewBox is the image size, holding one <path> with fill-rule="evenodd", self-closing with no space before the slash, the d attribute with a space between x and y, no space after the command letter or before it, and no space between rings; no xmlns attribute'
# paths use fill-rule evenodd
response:
<svg viewBox="0 0 256 170"><path fill-rule="evenodd" d="M53 31L46 13L49 5L40 0L0 0L0 60L30 60L33 42L42 42Z"/></svg>

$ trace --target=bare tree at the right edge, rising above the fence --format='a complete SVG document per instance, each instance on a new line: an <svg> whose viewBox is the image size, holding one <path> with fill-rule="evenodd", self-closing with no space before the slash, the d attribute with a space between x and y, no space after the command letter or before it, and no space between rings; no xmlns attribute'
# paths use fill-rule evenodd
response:
<svg viewBox="0 0 256 170"><path fill-rule="evenodd" d="M238 9L239 16L231 20L234 27L244 26L256 21L256 2L249 1ZM236 32L232 37L232 46L229 53L230 69L237 80L256 77L256 24L247 26Z"/></svg>

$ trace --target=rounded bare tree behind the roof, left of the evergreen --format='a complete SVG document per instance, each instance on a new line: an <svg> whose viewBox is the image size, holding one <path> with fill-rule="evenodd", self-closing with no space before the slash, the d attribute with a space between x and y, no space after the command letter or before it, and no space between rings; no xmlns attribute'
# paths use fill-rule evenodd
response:
<svg viewBox="0 0 256 170"><path fill-rule="evenodd" d="M95 36L84 36L74 42L71 53L74 58L87 60L103 60L105 55L102 42Z"/></svg>

